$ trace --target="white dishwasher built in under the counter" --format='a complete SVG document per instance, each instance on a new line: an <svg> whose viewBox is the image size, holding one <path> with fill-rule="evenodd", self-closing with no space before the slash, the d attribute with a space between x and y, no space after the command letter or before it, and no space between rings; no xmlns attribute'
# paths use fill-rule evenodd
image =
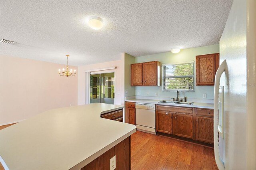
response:
<svg viewBox="0 0 256 170"><path fill-rule="evenodd" d="M137 130L156 134L155 105L136 103L136 127Z"/></svg>

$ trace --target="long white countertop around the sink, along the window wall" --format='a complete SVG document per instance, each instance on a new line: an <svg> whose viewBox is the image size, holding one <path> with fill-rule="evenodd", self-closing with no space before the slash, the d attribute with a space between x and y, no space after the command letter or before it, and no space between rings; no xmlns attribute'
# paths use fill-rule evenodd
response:
<svg viewBox="0 0 256 170"><path fill-rule="evenodd" d="M169 105L169 106L180 106L180 107L198 107L204 109L213 109L212 103L199 103L194 102L193 105L184 105L184 104L174 104L174 103L158 103L162 100L150 100L150 99L128 99L125 101L136 102L136 103L147 103L147 104L155 104L155 105Z"/></svg>

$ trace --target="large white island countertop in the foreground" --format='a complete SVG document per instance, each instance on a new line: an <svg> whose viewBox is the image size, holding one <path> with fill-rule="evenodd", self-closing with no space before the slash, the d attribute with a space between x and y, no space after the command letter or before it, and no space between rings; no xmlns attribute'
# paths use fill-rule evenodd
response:
<svg viewBox="0 0 256 170"><path fill-rule="evenodd" d="M0 130L0 155L11 170L80 169L130 136L136 126L100 118L124 108L93 103L54 109Z"/></svg>

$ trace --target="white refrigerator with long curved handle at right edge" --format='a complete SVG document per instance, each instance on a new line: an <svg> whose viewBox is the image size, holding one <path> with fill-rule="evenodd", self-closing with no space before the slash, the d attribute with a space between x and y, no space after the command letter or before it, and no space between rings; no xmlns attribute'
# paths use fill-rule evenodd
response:
<svg viewBox="0 0 256 170"><path fill-rule="evenodd" d="M256 170L256 1L234 0L214 85L214 154L220 170Z"/></svg>

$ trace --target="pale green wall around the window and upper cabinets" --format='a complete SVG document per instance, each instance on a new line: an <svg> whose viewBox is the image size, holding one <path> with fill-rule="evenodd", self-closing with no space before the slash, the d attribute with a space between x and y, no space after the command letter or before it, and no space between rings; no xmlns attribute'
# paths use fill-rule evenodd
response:
<svg viewBox="0 0 256 170"><path fill-rule="evenodd" d="M219 44L208 45L204 47L196 47L190 49L182 49L179 53L174 54L172 52L158 53L153 55L145 55L141 57L135 57L135 63L142 63L147 61L160 61L161 64L166 63L179 63L185 61L194 60L194 90L195 92L180 92L180 97L202 99L203 93L207 94L206 99L213 99L214 97L214 86L196 86L196 55L218 53L220 51ZM161 67L162 76L162 67ZM158 97L176 97L176 92L162 91L162 77L161 86L136 86L135 94L139 96L155 96L158 93ZM139 93L139 94L137 94ZM127 95L128 96L128 95Z"/></svg>

